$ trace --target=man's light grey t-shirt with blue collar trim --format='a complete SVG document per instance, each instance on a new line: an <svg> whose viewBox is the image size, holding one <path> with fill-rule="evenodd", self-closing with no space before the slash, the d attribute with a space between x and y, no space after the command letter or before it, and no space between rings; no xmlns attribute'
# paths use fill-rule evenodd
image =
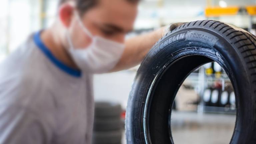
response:
<svg viewBox="0 0 256 144"><path fill-rule="evenodd" d="M40 32L0 64L0 144L90 144L92 75L57 60Z"/></svg>

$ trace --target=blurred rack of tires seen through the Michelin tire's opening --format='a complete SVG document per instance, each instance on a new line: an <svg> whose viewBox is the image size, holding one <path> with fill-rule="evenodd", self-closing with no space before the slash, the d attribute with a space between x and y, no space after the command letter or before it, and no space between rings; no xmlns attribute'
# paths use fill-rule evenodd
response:
<svg viewBox="0 0 256 144"><path fill-rule="evenodd" d="M205 111L235 113L234 89L225 70L217 62L207 63L204 68L209 82L202 96Z"/></svg>

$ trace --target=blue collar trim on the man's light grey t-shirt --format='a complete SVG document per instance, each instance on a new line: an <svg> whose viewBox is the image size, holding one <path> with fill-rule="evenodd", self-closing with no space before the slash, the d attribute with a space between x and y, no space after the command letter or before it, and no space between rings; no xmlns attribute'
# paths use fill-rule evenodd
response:
<svg viewBox="0 0 256 144"><path fill-rule="evenodd" d="M66 66L64 63L62 63L61 61L59 61L57 58L54 57L51 51L45 46L45 44L41 40L40 33L41 32L39 31L34 35L34 42L42 50L42 52L51 60L51 62L64 72L74 77L81 77L82 75L81 71L75 70Z"/></svg>

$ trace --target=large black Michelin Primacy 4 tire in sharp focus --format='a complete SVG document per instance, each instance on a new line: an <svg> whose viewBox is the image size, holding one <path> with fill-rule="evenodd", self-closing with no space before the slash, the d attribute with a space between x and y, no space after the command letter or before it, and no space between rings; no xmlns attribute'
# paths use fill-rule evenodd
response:
<svg viewBox="0 0 256 144"><path fill-rule="evenodd" d="M232 144L256 143L256 37L213 20L186 23L169 32L142 62L126 112L128 144L173 143L170 114L185 78L216 61L236 94L237 118Z"/></svg>

